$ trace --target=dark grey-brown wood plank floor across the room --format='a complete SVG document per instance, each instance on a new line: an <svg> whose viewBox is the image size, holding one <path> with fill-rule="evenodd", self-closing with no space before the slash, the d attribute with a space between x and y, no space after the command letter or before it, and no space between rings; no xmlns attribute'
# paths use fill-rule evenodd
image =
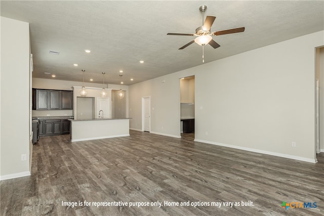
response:
<svg viewBox="0 0 324 216"><path fill-rule="evenodd" d="M313 164L193 142L192 134L130 135L74 143L69 135L42 137L31 176L1 181L1 215L323 215L324 153ZM114 201L124 203L95 206ZM286 210L283 201L317 207Z"/></svg>

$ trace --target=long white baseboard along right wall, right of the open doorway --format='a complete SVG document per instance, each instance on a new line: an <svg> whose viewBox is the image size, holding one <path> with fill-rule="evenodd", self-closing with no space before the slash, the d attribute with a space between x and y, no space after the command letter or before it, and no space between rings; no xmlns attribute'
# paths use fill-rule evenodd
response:
<svg viewBox="0 0 324 216"><path fill-rule="evenodd" d="M212 144L212 145L216 145L216 146L223 146L223 147L228 147L228 148L233 148L233 149L239 149L239 150L244 150L244 151L267 154L267 155L272 155L272 156L277 156L277 157L284 157L284 158L288 158L288 159L301 160L301 161L305 161L305 162L309 162L309 163L317 162L316 159L299 157L299 156L290 155L290 154L281 154L281 153L277 153L277 152L264 151L264 150L260 150L260 149L252 149L252 148L246 148L246 147L241 147L241 146L233 146L233 145L228 145L228 144L223 144L223 143L211 142L211 141L207 141L207 140L194 139L194 141L200 142L200 143Z"/></svg>

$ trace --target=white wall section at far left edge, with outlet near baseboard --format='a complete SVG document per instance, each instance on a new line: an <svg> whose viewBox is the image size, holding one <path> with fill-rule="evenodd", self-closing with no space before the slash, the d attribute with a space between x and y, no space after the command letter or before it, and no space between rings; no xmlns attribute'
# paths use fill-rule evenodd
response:
<svg viewBox="0 0 324 216"><path fill-rule="evenodd" d="M30 175L29 24L1 17L0 178ZM21 161L26 154L27 160Z"/></svg>

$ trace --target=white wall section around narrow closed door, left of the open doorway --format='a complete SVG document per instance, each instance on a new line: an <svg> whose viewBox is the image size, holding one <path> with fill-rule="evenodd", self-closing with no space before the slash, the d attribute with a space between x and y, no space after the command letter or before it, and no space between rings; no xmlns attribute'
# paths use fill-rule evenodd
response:
<svg viewBox="0 0 324 216"><path fill-rule="evenodd" d="M130 128L142 129L142 97L151 96L151 133L180 137L179 78L173 73L129 86Z"/></svg>

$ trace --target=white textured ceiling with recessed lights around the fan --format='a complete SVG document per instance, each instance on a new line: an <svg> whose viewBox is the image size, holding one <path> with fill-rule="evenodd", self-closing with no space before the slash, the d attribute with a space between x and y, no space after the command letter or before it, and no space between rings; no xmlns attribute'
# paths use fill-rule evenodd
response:
<svg viewBox="0 0 324 216"><path fill-rule="evenodd" d="M30 23L33 77L118 84L123 70L130 85L203 64L199 45L178 50L194 37L167 35L195 33L201 5L211 31L246 28L214 36L205 63L324 29L323 1L1 1L1 16Z"/></svg>

